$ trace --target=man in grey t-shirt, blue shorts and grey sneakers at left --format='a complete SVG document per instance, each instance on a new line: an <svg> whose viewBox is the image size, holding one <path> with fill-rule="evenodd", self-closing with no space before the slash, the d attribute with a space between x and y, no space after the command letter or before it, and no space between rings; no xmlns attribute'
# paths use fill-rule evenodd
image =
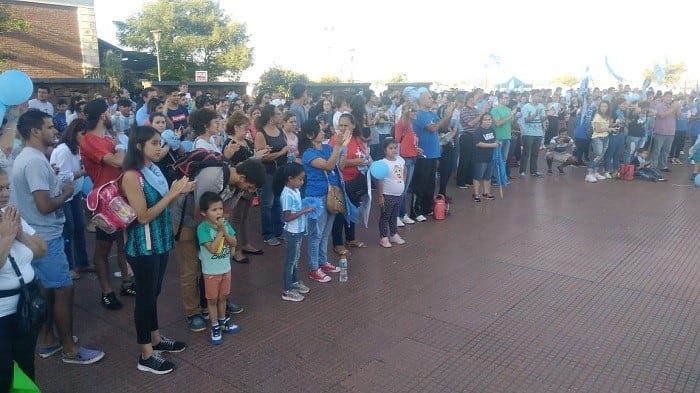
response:
<svg viewBox="0 0 700 393"><path fill-rule="evenodd" d="M30 110L20 116L17 130L24 148L12 170L10 203L36 234L46 240L46 255L32 261L42 294L49 304L48 320L39 335L39 356L47 358L60 351L64 363L90 364L104 357L99 350L78 347L73 338L73 280L63 243L63 204L73 196L73 183L61 184L46 158L56 143L51 115ZM57 342L53 329L59 335Z"/></svg>

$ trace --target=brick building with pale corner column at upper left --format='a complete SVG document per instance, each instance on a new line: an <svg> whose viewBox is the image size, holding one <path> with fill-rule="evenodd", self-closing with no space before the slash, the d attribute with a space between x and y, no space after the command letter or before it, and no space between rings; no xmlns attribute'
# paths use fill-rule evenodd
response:
<svg viewBox="0 0 700 393"><path fill-rule="evenodd" d="M99 68L93 0L3 0L29 21L29 31L4 35L14 59L5 67L31 78L83 78Z"/></svg>

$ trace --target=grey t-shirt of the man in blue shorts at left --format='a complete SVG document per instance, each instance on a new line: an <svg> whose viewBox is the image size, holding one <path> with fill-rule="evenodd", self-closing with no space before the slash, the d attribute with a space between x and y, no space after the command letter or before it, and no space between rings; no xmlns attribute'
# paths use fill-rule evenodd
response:
<svg viewBox="0 0 700 393"><path fill-rule="evenodd" d="M49 198L55 198L62 191L63 184L44 153L25 146L15 158L10 179L10 204L17 206L22 218L39 236L47 241L59 238L66 222L63 208L42 214L32 195L34 191L48 191Z"/></svg>

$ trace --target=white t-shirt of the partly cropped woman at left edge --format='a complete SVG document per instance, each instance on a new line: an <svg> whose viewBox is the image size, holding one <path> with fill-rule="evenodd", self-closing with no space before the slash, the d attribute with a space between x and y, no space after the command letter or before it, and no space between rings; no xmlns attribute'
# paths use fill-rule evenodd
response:
<svg viewBox="0 0 700 393"><path fill-rule="evenodd" d="M22 230L27 235L34 234L34 228L29 226L24 220L22 220ZM17 262L19 271L22 273L24 282L29 284L34 280L34 269L31 265L34 253L32 253L29 247L15 240L12 242L10 255L15 258L15 262ZM10 258L7 258L5 264L0 268L0 290L16 288L19 288L19 278L12 268ZM16 313L17 301L19 301L19 295L0 298L0 318Z"/></svg>

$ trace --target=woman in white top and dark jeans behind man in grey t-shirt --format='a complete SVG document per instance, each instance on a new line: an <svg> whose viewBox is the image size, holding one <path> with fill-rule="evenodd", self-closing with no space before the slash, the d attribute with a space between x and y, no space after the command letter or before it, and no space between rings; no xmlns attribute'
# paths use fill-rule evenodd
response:
<svg viewBox="0 0 700 393"><path fill-rule="evenodd" d="M85 136L84 119L75 119L66 128L60 143L51 152L50 163L58 168L58 176L64 182L73 182L73 197L63 204L66 222L63 224L64 251L71 269L71 278L80 278L80 272L90 268L85 240L85 214L80 192L87 172L80 159L80 140Z"/></svg>

